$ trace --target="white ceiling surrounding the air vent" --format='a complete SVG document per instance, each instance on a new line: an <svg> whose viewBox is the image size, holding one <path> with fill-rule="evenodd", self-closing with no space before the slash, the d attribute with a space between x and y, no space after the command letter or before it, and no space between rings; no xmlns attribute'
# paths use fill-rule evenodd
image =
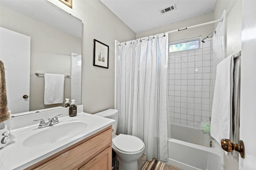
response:
<svg viewBox="0 0 256 170"><path fill-rule="evenodd" d="M199 16L214 10L216 0L100 0L135 33ZM160 9L176 4L176 10Z"/></svg>

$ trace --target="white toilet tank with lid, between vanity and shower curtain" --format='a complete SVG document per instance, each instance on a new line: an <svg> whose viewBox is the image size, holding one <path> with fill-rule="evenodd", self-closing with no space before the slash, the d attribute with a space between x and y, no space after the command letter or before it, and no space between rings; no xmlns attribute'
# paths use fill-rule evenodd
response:
<svg viewBox="0 0 256 170"><path fill-rule="evenodd" d="M116 120L112 124L112 128L114 129L114 131L112 132L112 137L114 135L116 135L116 128L117 128L117 123L118 123L117 122L118 121L118 110L116 110L116 109L108 109L108 110L104 110L104 111L95 113L94 115Z"/></svg>

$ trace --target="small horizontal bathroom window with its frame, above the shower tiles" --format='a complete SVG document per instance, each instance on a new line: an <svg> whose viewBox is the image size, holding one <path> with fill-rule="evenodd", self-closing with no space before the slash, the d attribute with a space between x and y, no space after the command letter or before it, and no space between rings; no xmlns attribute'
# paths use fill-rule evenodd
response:
<svg viewBox="0 0 256 170"><path fill-rule="evenodd" d="M169 53L175 51L183 51L190 49L198 49L200 47L200 37L194 39L186 39L169 43Z"/></svg>

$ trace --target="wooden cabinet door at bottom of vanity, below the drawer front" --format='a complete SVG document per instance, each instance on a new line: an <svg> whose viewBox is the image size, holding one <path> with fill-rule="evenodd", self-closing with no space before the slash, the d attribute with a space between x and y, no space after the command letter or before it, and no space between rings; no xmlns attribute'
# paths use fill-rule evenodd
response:
<svg viewBox="0 0 256 170"><path fill-rule="evenodd" d="M112 147L108 147L108 149L105 149L92 160L80 167L79 170L111 170L111 163Z"/></svg>

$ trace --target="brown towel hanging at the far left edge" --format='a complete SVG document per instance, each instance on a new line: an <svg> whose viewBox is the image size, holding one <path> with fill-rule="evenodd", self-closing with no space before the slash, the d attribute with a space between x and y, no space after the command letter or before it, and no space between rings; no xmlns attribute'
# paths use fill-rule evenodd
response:
<svg viewBox="0 0 256 170"><path fill-rule="evenodd" d="M4 63L0 60L0 123L9 119Z"/></svg>

